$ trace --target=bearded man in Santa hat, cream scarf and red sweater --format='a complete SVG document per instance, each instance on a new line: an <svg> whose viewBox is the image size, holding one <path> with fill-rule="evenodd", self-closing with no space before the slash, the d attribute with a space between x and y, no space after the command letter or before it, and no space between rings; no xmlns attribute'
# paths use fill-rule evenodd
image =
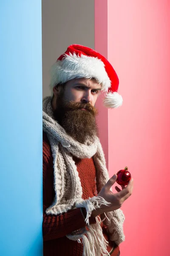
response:
<svg viewBox="0 0 170 256"><path fill-rule="evenodd" d="M52 96L43 99L44 256L118 256L124 241L120 207L133 179L111 187L96 124L96 100L122 105L119 79L98 52L71 45L51 69Z"/></svg>

